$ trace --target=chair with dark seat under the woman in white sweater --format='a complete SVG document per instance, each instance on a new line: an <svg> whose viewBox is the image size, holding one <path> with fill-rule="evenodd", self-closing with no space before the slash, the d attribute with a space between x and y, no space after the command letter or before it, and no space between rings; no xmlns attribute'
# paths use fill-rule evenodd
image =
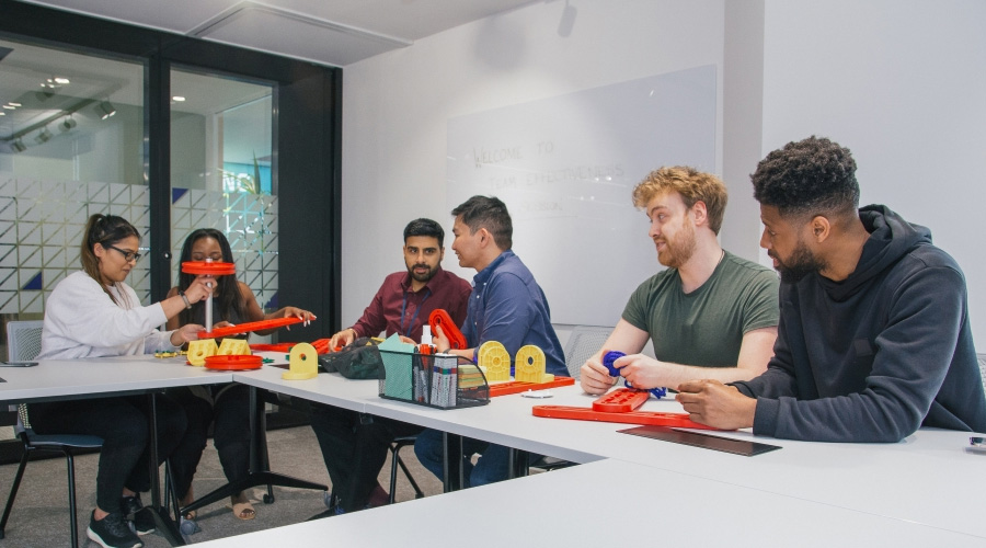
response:
<svg viewBox="0 0 986 548"><path fill-rule="evenodd" d="M42 321L11 321L7 324L7 344L8 359L11 362L30 361L37 357L41 353L41 335ZM79 450L99 449L103 446L103 438L96 436L83 435L39 435L35 434L31 429L31 421L27 416L27 406L21 403L16 406L18 424L14 432L24 446L24 454L21 457L21 464L14 476L13 484L10 488L10 495L7 498L7 506L3 509L3 517L0 517L0 538L3 538L3 530L7 527L7 520L10 517L10 511L13 509L13 501L18 495L18 488L21 486L21 478L24 476L24 469L27 467L27 460L35 452L41 453L61 453L65 456L66 468L68 469L68 496L69 496L69 530L71 532L71 546L79 546L79 530L76 520L76 463L74 455Z"/></svg>

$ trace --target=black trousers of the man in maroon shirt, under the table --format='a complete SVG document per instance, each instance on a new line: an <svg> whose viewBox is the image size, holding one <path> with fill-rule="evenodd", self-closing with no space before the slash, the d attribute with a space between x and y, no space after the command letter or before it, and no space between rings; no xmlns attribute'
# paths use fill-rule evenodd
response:
<svg viewBox="0 0 986 548"><path fill-rule="evenodd" d="M322 449L332 492L346 511L366 506L387 461L390 443L417 434L422 426L347 409L311 404L311 430Z"/></svg>

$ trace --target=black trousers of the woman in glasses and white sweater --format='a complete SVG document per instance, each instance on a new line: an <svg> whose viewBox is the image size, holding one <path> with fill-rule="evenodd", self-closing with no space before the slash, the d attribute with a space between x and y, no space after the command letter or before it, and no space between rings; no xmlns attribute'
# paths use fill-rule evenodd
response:
<svg viewBox="0 0 986 548"><path fill-rule="evenodd" d="M96 473L96 505L121 512L124 488L150 489L148 401L145 396L32 403L31 425L38 434L82 434L103 438ZM185 437L185 412L167 396L157 397L158 459L175 454Z"/></svg>

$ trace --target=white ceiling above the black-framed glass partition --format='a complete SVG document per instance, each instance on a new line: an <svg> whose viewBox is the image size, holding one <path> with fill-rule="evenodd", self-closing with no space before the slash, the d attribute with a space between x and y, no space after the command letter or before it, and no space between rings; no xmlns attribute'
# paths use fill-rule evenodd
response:
<svg viewBox="0 0 986 548"><path fill-rule="evenodd" d="M24 0L343 67L534 1Z"/></svg>

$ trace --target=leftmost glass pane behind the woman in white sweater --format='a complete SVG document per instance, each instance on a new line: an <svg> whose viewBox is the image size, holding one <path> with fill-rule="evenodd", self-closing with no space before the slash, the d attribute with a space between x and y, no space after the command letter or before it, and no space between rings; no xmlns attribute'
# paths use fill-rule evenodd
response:
<svg viewBox="0 0 986 548"><path fill-rule="evenodd" d="M150 239L144 65L0 39L0 315L41 319L90 215ZM147 262L127 276L150 298ZM5 334L5 330L4 330Z"/></svg>

